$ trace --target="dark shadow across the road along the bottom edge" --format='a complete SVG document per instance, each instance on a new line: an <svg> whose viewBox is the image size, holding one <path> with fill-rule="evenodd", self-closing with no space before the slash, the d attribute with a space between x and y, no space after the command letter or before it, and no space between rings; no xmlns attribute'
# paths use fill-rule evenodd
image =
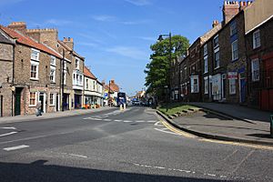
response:
<svg viewBox="0 0 273 182"><path fill-rule="evenodd" d="M217 182L221 180L192 178L192 177L169 177L157 175L143 175L125 173L118 171L107 171L97 169L87 169L78 167L61 167L45 165L46 160L37 160L31 164L3 163L0 162L0 181L1 182L30 182L30 181L186 181L186 182ZM227 181L227 180L226 180Z"/></svg>

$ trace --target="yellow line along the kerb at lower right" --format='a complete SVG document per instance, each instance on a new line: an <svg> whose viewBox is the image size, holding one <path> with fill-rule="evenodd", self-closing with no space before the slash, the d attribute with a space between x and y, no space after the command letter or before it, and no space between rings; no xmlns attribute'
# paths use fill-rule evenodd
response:
<svg viewBox="0 0 273 182"><path fill-rule="evenodd" d="M246 143L238 143L238 142L228 142L228 141L221 141L221 140L215 140L215 139L202 138L202 139L199 139L199 141L224 144L224 145L239 146L239 147L251 147L251 148L262 149L262 150L273 150L273 147L269 147L269 146L260 146L260 145L255 145L255 144L246 144Z"/></svg>

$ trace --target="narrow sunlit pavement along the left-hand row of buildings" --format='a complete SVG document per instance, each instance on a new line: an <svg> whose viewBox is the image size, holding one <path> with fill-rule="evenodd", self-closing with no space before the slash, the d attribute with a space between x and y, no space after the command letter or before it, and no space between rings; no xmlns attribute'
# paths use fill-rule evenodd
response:
<svg viewBox="0 0 273 182"><path fill-rule="evenodd" d="M43 120L43 119L50 119L50 118L57 118L57 117L64 117L64 116L77 116L77 115L86 115L92 114L99 111L110 110L116 107L100 107L96 109L75 109L75 110L67 110L64 112L55 112L55 113L45 113L42 116L35 116L35 115L27 115L27 116L7 116L7 117L0 117L0 124L5 123L17 123L23 121L35 121L35 120Z"/></svg>

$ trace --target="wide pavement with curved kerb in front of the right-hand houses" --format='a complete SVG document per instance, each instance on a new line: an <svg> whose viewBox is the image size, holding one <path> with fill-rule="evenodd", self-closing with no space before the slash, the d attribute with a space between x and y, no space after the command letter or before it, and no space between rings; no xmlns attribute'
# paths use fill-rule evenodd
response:
<svg viewBox="0 0 273 182"><path fill-rule="evenodd" d="M189 103L203 108L187 116L169 119L168 123L196 136L232 142L273 146L270 137L270 114L246 106L217 103Z"/></svg>

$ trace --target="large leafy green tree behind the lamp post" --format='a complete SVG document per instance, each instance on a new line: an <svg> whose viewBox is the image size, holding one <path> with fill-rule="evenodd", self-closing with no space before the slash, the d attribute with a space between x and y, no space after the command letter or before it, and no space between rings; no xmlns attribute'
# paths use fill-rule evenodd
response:
<svg viewBox="0 0 273 182"><path fill-rule="evenodd" d="M150 56L151 62L147 64L144 73L146 76L147 93L151 93L159 98L165 94L166 86L170 83L170 57L171 60L177 56L186 54L189 41L186 37L181 35L174 35L171 37L171 46L169 45L169 38L166 38L150 48L153 53ZM171 47L171 50L170 50Z"/></svg>

